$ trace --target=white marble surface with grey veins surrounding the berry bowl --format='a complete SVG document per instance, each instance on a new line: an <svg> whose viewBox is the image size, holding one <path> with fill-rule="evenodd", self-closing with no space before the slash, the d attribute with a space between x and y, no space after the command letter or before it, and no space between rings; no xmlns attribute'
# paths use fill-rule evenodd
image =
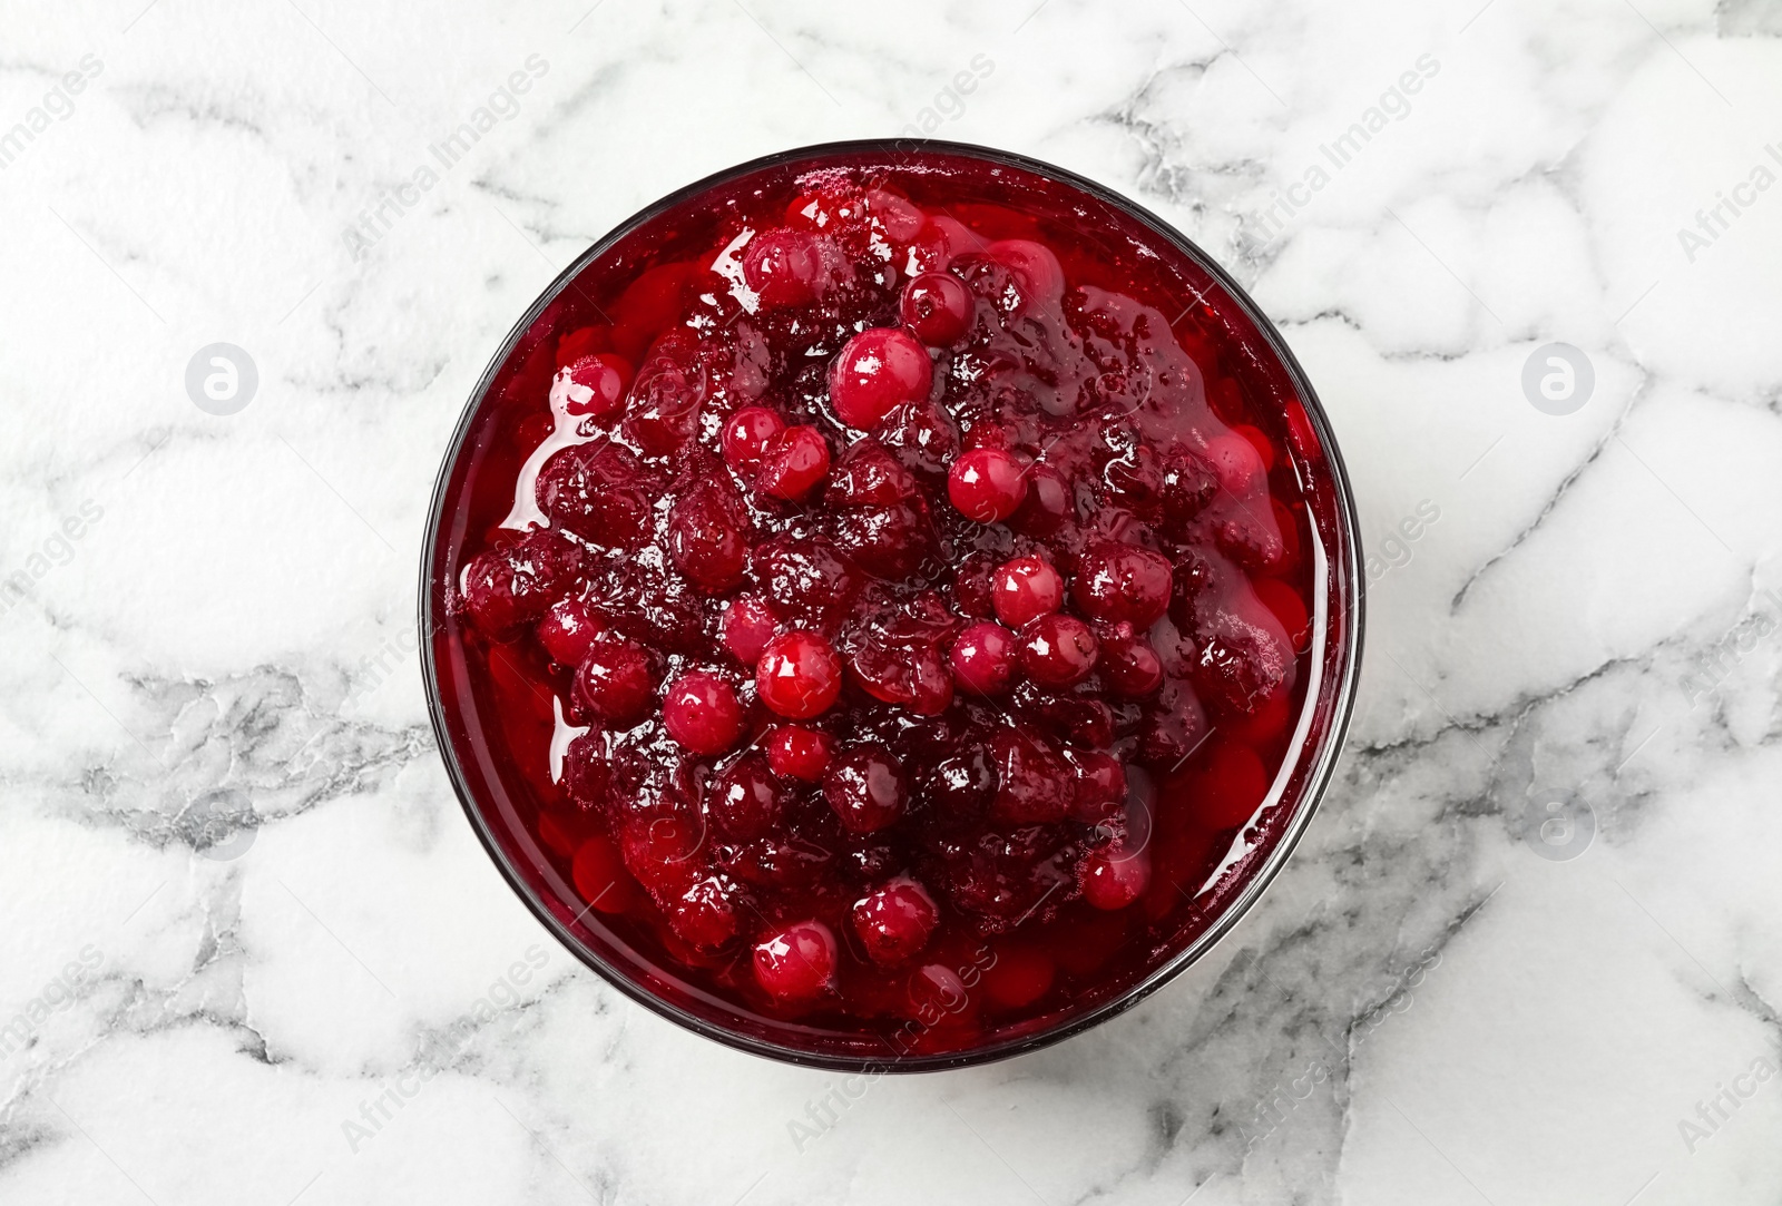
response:
<svg viewBox="0 0 1782 1206"><path fill-rule="evenodd" d="M0 155L0 1201L1777 1201L1782 1078L1741 1080L1782 1069L1782 187L1741 185L1782 182L1777 0L836 12L7 5L0 137L46 109ZM415 565L463 397L590 239L925 109L1253 287L1379 574L1336 787L1212 958L800 1149L836 1076L627 1005L490 868ZM184 385L214 342L258 369L226 417ZM1575 413L1524 394L1549 342ZM1549 793L1577 857L1529 839Z"/></svg>

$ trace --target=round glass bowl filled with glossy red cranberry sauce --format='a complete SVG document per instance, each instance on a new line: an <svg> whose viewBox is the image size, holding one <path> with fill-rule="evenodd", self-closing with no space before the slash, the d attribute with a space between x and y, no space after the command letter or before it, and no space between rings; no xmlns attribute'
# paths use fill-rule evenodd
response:
<svg viewBox="0 0 1782 1206"><path fill-rule="evenodd" d="M818 148L627 224L440 483L474 819L640 999L928 1067L1160 982L1260 891L1356 661L1353 518L1178 237L969 148Z"/></svg>

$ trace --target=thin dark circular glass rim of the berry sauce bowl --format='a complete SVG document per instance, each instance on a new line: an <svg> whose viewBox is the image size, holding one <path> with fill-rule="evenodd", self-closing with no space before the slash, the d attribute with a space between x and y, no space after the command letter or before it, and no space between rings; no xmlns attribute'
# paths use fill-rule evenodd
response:
<svg viewBox="0 0 1782 1206"><path fill-rule="evenodd" d="M1091 198L1110 205L1128 217L1137 219L1146 228L1149 228L1157 237L1174 244L1178 251L1187 255L1201 271L1219 281L1226 294L1238 305L1244 315L1256 326L1256 330L1267 338L1271 349L1279 358L1281 365L1287 369L1296 390L1299 392L1299 401L1306 410L1306 419L1310 420L1313 433L1324 449L1326 460L1329 463L1331 492L1336 501L1336 518L1338 526L1347 536L1347 550L1344 565L1340 568L1347 570L1342 577L1353 584L1351 597L1340 600L1347 606L1351 615L1351 638L1347 643L1347 656L1344 664L1336 672L1336 700L1331 713L1331 723L1326 729L1324 741L1317 755L1317 762L1312 766L1306 777L1304 789L1299 798L1299 807L1292 818L1288 818L1279 839L1274 843L1269 855L1258 866L1249 882L1233 896L1221 914L1206 926L1201 933L1194 937L1185 948L1176 951L1167 962L1155 967L1144 980L1135 983L1124 994L1112 998L1096 1005L1078 1017L1062 1021L1044 1031L1032 1035L1021 1035L1018 1039L1009 1039L985 1047L952 1051L952 1053L932 1053L932 1055L893 1055L886 1058L868 1058L852 1055L829 1055L816 1051L800 1051L797 1047L786 1047L777 1042L764 1039L756 1039L752 1035L743 1035L734 1030L727 1030L720 1024L709 1023L697 1017L672 1001L666 1001L654 992L650 992L642 983L634 983L629 976L615 967L609 967L604 958L588 949L576 935L563 925L527 887L520 878L519 871L511 866L501 844L490 832L490 825L483 816L481 809L470 796L465 786L463 766L458 761L458 752L453 746L451 732L446 723L446 705L438 684L438 666L433 657L433 632L438 627L438 618L433 607L433 577L435 577L435 552L438 549L440 527L446 518L446 493L451 485L453 469L458 465L458 458L463 452L463 445L474 420L481 410L483 401L488 397L488 390L495 381L495 376L506 365L508 356L513 354L513 347L520 342L526 331L544 315L545 308L558 299L558 296L568 289L568 285L581 274L588 264L609 251L620 239L634 232L643 223L658 217L665 210L670 210L683 201L688 201L716 185L731 182L738 176L750 173L782 167L788 164L797 164L800 160L832 157L832 155L920 155L927 151L939 151L950 155L960 155L968 159L978 159L998 166L1018 167L1041 176L1050 176L1059 183L1066 183L1078 189ZM1333 574L1338 565L1331 563ZM1319 401L1317 392L1312 387L1312 379L1301 367L1299 360L1294 356L1287 340L1276 330L1274 322L1267 314L1251 299L1249 292L1238 285L1238 281L1206 251L1203 251L1194 240L1178 232L1173 224L1139 205L1137 201L1116 192L1108 185L1096 180L1082 176L1057 164L1050 164L1030 155L1021 155L1016 151L1005 151L993 146L980 146L975 143L950 143L944 139L845 139L836 143L814 143L809 146L797 146L784 151L773 151L772 155L761 155L747 162L736 164L732 167L723 167L700 180L683 185L663 198L652 201L642 210L634 212L615 224L608 233L595 239L581 255L577 255L568 267L565 267L558 276L538 294L538 297L526 308L520 319L506 333L501 344L495 347L478 378L470 397L465 401L463 412L458 417L458 426L453 429L451 440L446 445L444 456L440 460L440 469L433 483L433 499L428 506L426 527L422 531L422 552L421 552L421 597L417 609L419 638L421 638L421 670L422 686L428 697L428 716L433 725L435 745L438 746L440 759L446 762L447 778L451 778L453 791L458 796L458 803L463 807L465 816L470 821L470 828L476 832L478 839L483 843L483 850L488 852L490 860L506 878L508 887L513 889L531 914L544 925L544 928L563 944L563 948L581 960L590 971L601 976L608 985L625 994L631 1001L643 1005L650 1012L666 1017L668 1021L700 1035L711 1039L736 1051L745 1051L748 1055L775 1060L779 1063L793 1063L800 1067L814 1067L839 1072L857 1072L879 1076L886 1072L936 1072L960 1067L977 1067L984 1063L996 1063L1000 1060L1009 1060L1018 1055L1026 1055L1039 1051L1041 1047L1050 1047L1057 1042L1064 1042L1075 1035L1099 1026L1101 1023L1124 1014L1133 1008L1153 992L1162 989L1165 983L1180 976L1190 966L1205 958L1231 930L1237 923L1256 905L1262 894L1269 889L1274 878L1279 875L1281 868L1292 857L1306 828L1312 825L1312 818L1317 814L1324 802L1324 793L1329 789L1329 782L1335 775L1336 761L1342 755L1344 745L1349 734L1351 713L1354 709L1354 697L1360 684L1361 672L1361 645L1365 640L1365 604L1367 604L1367 577L1363 574L1361 561L1361 529L1360 517L1354 504L1354 492L1349 485L1349 472L1342 460L1342 451L1336 444L1335 431L1331 429L1329 417L1324 412L1324 404Z"/></svg>

